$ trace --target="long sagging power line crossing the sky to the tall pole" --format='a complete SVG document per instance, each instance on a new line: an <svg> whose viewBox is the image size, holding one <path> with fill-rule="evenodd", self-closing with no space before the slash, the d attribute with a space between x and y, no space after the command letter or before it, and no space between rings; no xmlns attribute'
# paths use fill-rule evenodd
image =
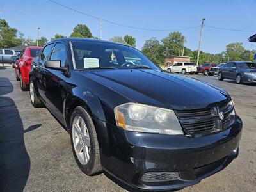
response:
<svg viewBox="0 0 256 192"><path fill-rule="evenodd" d="M74 8L70 8L69 6L66 6L64 4L58 3L56 1L53 1L53 0L49 0L49 1L51 1L52 3L58 4L58 5L60 5L60 6L64 7L64 8L67 8L68 10L72 10L73 12L77 12L77 13L80 13L82 15L85 15L87 17L92 17L93 19L97 19L97 20L101 19L100 17L96 17L94 15L89 15L87 13L80 12L79 10L75 10ZM200 27L200 26L193 26L193 27L181 28L181 29L150 29L150 28L140 28L140 27L136 27L136 26L127 26L125 24L120 24L120 23L113 22L111 20L106 20L106 19L102 19L102 21L108 22L109 24L113 24L113 25L116 25L116 26L122 26L122 27L125 27L125 28L132 28L132 29L141 29L141 30L146 30L146 31L183 31L183 30L187 30L187 29L193 29L193 28Z"/></svg>

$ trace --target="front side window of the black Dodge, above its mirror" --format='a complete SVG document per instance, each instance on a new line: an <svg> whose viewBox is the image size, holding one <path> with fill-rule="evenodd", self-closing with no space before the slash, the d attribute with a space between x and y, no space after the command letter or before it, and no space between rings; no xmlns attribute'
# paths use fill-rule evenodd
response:
<svg viewBox="0 0 256 192"><path fill-rule="evenodd" d="M67 51L63 44L57 43L52 51L51 60L61 60L61 67L67 65Z"/></svg>

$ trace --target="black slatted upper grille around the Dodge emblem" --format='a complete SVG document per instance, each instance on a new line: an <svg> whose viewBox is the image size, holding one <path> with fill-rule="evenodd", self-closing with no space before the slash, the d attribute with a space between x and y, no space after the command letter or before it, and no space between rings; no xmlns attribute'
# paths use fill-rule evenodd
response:
<svg viewBox="0 0 256 192"><path fill-rule="evenodd" d="M233 106L225 102L212 108L177 112L180 122L188 134L209 134L227 129L234 122L234 115L230 115L233 109ZM220 119L218 112L223 113L223 120Z"/></svg>

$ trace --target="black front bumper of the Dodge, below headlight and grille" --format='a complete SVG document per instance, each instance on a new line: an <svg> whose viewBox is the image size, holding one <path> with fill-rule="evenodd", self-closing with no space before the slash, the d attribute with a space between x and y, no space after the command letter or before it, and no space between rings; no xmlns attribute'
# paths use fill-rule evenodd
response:
<svg viewBox="0 0 256 192"><path fill-rule="evenodd" d="M195 138L129 132L108 126L109 141L100 151L104 170L144 191L184 188L223 170L238 155L242 130L238 116L230 129ZM108 150L104 151L106 147ZM145 182L141 177L147 172L177 172L179 179Z"/></svg>

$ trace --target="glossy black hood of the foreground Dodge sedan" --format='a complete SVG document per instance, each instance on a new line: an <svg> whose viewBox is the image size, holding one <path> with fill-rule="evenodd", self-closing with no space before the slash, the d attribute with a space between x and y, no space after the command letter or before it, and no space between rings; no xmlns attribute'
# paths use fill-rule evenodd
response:
<svg viewBox="0 0 256 192"><path fill-rule="evenodd" d="M131 102L171 109L198 109L229 98L225 90L160 70L84 70L90 77Z"/></svg>

